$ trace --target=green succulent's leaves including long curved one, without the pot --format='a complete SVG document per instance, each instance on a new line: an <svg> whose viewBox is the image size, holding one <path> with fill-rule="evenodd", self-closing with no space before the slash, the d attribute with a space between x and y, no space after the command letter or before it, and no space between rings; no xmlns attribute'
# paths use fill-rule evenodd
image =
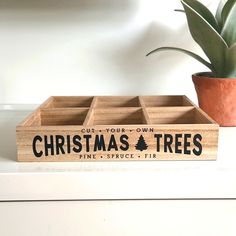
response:
<svg viewBox="0 0 236 236"><path fill-rule="evenodd" d="M236 0L221 0L215 16L197 0L182 0L181 3L190 33L209 62L191 51L176 47L160 47L147 56L162 50L176 50L207 66L214 77L236 78Z"/></svg>

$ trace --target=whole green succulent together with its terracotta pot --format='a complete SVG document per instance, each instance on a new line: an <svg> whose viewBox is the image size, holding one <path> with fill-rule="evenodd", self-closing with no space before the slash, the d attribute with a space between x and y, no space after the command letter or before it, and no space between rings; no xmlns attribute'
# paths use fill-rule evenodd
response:
<svg viewBox="0 0 236 236"><path fill-rule="evenodd" d="M197 0L181 1L193 39L209 59L176 47L210 69L192 75L199 106L221 126L236 126L236 0L221 1L215 16ZM182 11L182 10L181 10Z"/></svg>

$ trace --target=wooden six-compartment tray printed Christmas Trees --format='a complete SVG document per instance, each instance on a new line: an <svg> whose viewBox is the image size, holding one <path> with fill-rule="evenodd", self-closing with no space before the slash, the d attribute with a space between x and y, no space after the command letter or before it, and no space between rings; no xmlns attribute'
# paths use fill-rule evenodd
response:
<svg viewBox="0 0 236 236"><path fill-rule="evenodd" d="M50 97L17 126L18 161L216 160L218 130L186 96Z"/></svg>

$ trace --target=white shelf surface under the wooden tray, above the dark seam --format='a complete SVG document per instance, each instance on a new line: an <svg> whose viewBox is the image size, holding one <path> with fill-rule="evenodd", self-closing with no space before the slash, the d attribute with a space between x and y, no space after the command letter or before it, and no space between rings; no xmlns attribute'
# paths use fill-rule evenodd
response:
<svg viewBox="0 0 236 236"><path fill-rule="evenodd" d="M15 127L35 105L0 105L0 201L236 198L236 128L217 161L18 163Z"/></svg>

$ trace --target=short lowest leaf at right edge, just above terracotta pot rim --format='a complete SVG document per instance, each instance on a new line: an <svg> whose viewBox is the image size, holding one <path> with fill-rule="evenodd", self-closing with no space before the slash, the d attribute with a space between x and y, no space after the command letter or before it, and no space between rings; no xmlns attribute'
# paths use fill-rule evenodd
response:
<svg viewBox="0 0 236 236"><path fill-rule="evenodd" d="M226 54L226 62L227 77L236 78L236 43L234 43L230 48L228 48Z"/></svg>

